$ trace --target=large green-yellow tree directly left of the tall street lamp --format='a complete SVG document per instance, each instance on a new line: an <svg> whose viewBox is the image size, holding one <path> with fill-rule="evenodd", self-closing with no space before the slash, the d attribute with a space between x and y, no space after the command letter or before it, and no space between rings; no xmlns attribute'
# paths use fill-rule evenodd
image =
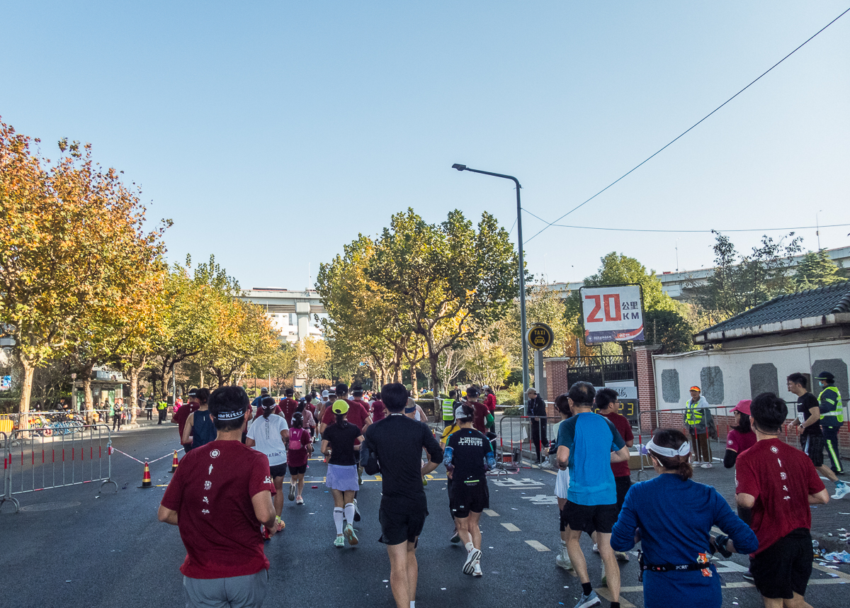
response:
<svg viewBox="0 0 850 608"><path fill-rule="evenodd" d="M437 395L439 355L507 312L518 269L507 230L489 213L476 230L460 211L427 224L408 209L383 230L365 276L380 289L386 310L424 339Z"/></svg>

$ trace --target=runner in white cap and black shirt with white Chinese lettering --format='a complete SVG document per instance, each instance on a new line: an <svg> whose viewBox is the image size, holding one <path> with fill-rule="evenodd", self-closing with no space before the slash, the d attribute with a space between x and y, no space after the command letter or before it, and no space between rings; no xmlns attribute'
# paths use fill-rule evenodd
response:
<svg viewBox="0 0 850 608"><path fill-rule="evenodd" d="M463 573L481 576L481 530L479 520L490 507L487 491L487 469L496 461L490 441L473 429L474 410L471 406L457 407L455 419L461 429L452 434L445 446L443 463L451 479L449 505L455 525L467 548Z"/></svg>

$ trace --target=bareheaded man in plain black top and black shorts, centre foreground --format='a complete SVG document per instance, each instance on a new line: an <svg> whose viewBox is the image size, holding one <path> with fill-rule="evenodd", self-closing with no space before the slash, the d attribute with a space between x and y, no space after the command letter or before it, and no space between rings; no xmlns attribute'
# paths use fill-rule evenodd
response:
<svg viewBox="0 0 850 608"><path fill-rule="evenodd" d="M364 445L381 467L378 520L380 541L387 545L393 598L398 608L411 608L416 600L418 577L416 541L428 516L422 476L443 462L443 451L427 424L405 416L407 389L403 384L385 384L381 397L388 416L366 429ZM423 447L430 458L424 465Z"/></svg>

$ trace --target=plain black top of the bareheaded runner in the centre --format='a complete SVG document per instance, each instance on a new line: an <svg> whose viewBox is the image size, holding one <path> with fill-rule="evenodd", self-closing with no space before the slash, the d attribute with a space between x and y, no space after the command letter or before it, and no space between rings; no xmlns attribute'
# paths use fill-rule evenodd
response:
<svg viewBox="0 0 850 608"><path fill-rule="evenodd" d="M390 414L370 424L364 437L381 464L381 509L400 514L427 510L422 487L422 448L432 463L443 462L443 450L428 424L403 414Z"/></svg>

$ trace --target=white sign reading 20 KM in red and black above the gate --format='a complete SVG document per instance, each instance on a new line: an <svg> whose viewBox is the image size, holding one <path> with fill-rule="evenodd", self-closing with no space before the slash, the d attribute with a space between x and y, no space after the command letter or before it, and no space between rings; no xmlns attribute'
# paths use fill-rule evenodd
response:
<svg viewBox="0 0 850 608"><path fill-rule="evenodd" d="M581 287L585 344L643 340L643 298L639 285Z"/></svg>

